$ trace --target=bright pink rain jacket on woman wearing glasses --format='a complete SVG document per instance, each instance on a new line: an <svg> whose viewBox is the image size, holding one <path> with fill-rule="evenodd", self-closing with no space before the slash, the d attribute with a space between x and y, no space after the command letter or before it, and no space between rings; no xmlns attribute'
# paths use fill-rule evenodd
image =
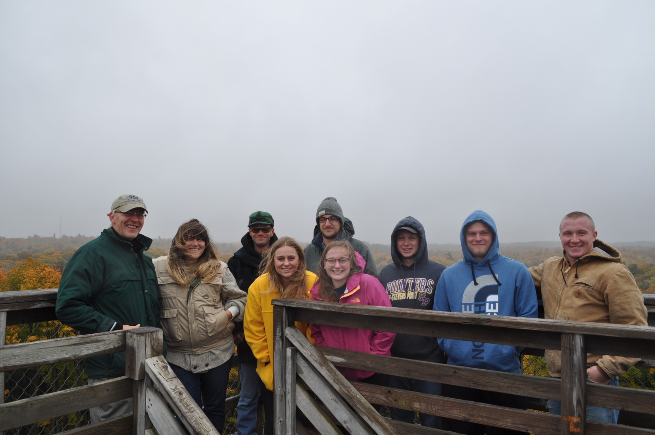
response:
<svg viewBox="0 0 655 435"><path fill-rule="evenodd" d="M366 263L359 252L355 252L357 264L364 270ZM318 282L309 290L312 300L318 301ZM377 305L391 307L391 301L386 290L375 276L356 273L346 282L346 292L339 303L354 303L358 305ZM377 355L390 355L396 333L385 331L356 330L342 326L326 326L312 324L312 337L316 346L334 347L336 349L356 350ZM341 374L350 381L361 381L375 375L374 371L356 370L337 367Z"/></svg>

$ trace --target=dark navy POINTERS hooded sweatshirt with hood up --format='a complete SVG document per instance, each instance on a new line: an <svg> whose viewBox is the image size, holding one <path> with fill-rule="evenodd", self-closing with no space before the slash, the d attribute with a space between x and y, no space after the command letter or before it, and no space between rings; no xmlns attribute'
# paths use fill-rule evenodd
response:
<svg viewBox="0 0 655 435"><path fill-rule="evenodd" d="M421 236L419 252L414 264L409 267L400 261L402 255L396 247L396 231L400 227L411 227ZM380 272L380 282L391 299L391 306L432 311L434 290L445 266L428 258L428 242L421 222L411 216L398 222L391 233L391 257L394 263L384 266ZM411 360L445 362L445 355L437 339L419 335L396 334L391 355Z"/></svg>

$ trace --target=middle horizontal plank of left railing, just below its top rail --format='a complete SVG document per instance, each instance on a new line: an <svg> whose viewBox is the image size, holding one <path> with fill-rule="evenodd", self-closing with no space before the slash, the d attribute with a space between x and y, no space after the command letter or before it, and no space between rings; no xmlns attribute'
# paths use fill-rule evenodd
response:
<svg viewBox="0 0 655 435"><path fill-rule="evenodd" d="M94 406L132 397L132 379L118 377L0 405L0 430L31 425Z"/></svg>

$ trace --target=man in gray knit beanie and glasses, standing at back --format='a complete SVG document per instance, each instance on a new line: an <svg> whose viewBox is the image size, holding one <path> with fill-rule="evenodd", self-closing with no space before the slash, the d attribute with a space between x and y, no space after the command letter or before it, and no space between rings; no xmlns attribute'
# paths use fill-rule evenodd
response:
<svg viewBox="0 0 655 435"><path fill-rule="evenodd" d="M362 255L366 261L364 273L373 275L377 278L377 267L373 255L368 246L352 238L355 230L352 227L350 219L343 216L343 210L337 199L334 197L327 197L324 199L318 209L316 209L316 227L314 227L314 238L312 242L305 248L305 261L307 262L307 270L316 272L321 255L326 246L335 240L348 240L352 244L352 248Z"/></svg>

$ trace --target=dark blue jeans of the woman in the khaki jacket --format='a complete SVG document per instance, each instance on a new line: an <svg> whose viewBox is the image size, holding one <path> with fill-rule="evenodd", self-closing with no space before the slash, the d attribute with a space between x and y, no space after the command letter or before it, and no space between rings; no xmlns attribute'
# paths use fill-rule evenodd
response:
<svg viewBox="0 0 655 435"><path fill-rule="evenodd" d="M202 408L216 430L223 433L223 425L225 425L225 392L230 377L230 369L232 368L232 358L206 373L193 373L175 364L169 363L168 365L179 377L184 388L187 388L196 404Z"/></svg>

